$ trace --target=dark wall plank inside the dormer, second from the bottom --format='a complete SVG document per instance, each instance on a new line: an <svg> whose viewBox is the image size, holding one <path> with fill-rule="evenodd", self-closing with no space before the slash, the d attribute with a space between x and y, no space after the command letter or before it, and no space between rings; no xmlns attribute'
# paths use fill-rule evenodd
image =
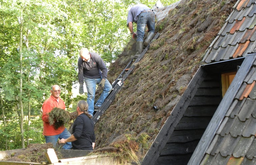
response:
<svg viewBox="0 0 256 165"><path fill-rule="evenodd" d="M189 141L186 143L167 143L163 150L161 151L161 156L166 155L180 155L180 154L189 154L193 153L196 145L200 139Z"/></svg>

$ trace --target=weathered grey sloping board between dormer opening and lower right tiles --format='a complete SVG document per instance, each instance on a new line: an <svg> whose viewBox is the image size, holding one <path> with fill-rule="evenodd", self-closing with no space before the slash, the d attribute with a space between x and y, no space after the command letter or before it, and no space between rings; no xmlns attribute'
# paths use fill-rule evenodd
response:
<svg viewBox="0 0 256 165"><path fill-rule="evenodd" d="M247 55L245 60L242 62L236 76L234 77L232 83L230 84L226 94L224 95L222 101L220 102L216 112L214 113L209 125L207 126L202 138L197 144L189 162L187 165L199 165L201 160L206 153L208 146L210 145L220 123L225 117L227 110L229 109L236 93L239 90L243 80L246 78L250 68L252 67L256 55ZM225 61L224 61L225 62ZM214 68L214 66L213 66Z"/></svg>

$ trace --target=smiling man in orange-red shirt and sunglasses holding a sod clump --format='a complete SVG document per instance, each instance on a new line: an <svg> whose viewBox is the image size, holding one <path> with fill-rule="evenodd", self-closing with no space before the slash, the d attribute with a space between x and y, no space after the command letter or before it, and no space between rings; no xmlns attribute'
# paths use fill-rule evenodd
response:
<svg viewBox="0 0 256 165"><path fill-rule="evenodd" d="M60 94L61 94L60 86L53 85L51 87L50 92L51 92L50 97L44 101L42 106L42 110L43 110L42 120L44 125L43 135L45 137L46 143L50 142L55 146L59 138L67 139L71 136L71 134L68 132L68 130L64 126L61 126L55 130L54 126L49 124L48 113L53 108L55 107L61 108L61 109L66 108L64 101L60 98ZM71 149L72 148L71 142L67 142L62 148Z"/></svg>

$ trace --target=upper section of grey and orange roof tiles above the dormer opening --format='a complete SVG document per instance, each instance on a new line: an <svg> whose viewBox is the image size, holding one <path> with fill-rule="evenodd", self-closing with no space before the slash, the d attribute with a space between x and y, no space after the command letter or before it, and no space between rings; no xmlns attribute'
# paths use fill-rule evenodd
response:
<svg viewBox="0 0 256 165"><path fill-rule="evenodd" d="M203 61L228 60L256 53L255 0L238 0L231 15L209 46Z"/></svg>

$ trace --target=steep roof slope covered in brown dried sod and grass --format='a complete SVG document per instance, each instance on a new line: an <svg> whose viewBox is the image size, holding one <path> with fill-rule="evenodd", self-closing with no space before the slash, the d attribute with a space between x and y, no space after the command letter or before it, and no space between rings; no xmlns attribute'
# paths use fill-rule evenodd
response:
<svg viewBox="0 0 256 165"><path fill-rule="evenodd" d="M193 75L203 64L206 49L231 13L234 1L181 1L157 24L160 37L151 44L143 59L125 81L114 102L95 125L97 147L108 146L119 135L137 138L141 158L152 144L181 98ZM110 65L108 79L113 81L135 54L131 40L118 59ZM157 106L158 111L152 107Z"/></svg>

